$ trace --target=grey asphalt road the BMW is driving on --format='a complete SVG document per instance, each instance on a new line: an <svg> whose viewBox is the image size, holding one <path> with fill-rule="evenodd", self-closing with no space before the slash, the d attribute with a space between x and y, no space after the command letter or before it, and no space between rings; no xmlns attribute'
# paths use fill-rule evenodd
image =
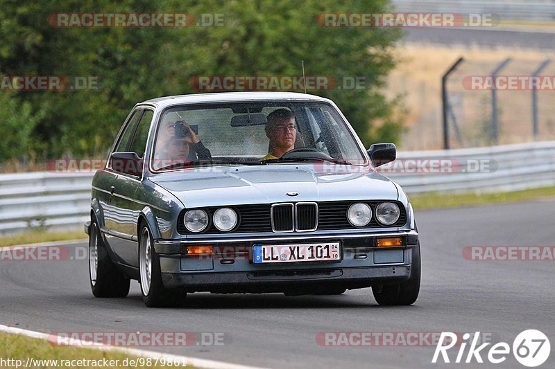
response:
<svg viewBox="0 0 555 369"><path fill-rule="evenodd" d="M554 245L554 206L545 200L417 210L422 289L410 307L379 307L370 289L359 289L341 296L190 294L188 307L148 309L137 282L128 298L93 298L86 260L2 261L0 324L46 333L225 332L223 346L148 349L270 368L446 366L431 364L433 346L326 347L316 342L318 332L480 331L512 345L518 333L538 329L555 350L554 262L462 256L464 246ZM487 361L487 352L482 357ZM459 366L478 367L450 368ZM552 352L540 368L554 367ZM479 368L524 367L510 355Z"/></svg>

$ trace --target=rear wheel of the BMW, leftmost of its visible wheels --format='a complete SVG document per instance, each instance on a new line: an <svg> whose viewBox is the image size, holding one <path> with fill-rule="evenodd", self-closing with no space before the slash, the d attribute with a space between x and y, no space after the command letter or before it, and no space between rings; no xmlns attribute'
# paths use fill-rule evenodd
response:
<svg viewBox="0 0 555 369"><path fill-rule="evenodd" d="M110 260L94 217L89 231L89 282L96 297L122 298L129 294L130 279Z"/></svg>

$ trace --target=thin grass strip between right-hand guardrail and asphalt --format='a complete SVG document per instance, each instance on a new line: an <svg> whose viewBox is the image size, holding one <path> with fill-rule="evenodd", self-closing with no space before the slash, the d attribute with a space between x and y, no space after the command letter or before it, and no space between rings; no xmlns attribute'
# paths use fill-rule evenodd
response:
<svg viewBox="0 0 555 369"><path fill-rule="evenodd" d="M513 192L409 195L413 208L456 208L555 198L555 186Z"/></svg>

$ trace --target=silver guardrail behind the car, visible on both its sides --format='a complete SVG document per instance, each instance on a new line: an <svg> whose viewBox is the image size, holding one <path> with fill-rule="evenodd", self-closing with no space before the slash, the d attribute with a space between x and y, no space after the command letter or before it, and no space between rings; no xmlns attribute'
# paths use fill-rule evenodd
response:
<svg viewBox="0 0 555 369"><path fill-rule="evenodd" d="M554 159L555 141L400 152L398 160L393 162L392 168L396 172L382 172L400 183L409 195L497 192L555 186ZM450 170L430 172L429 164L434 160L450 163ZM486 163L488 168L480 169L479 163ZM404 172L398 172L399 169ZM89 220L92 175L60 172L0 174L0 234L40 227L82 229Z"/></svg>

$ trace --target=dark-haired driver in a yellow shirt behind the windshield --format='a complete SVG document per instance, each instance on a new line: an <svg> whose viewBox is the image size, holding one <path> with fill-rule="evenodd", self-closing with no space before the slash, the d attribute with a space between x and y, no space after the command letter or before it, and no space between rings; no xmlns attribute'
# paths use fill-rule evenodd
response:
<svg viewBox="0 0 555 369"><path fill-rule="evenodd" d="M295 115L289 109L276 109L266 117L266 136L270 140L268 154L260 160L278 159L295 147L297 131Z"/></svg>

